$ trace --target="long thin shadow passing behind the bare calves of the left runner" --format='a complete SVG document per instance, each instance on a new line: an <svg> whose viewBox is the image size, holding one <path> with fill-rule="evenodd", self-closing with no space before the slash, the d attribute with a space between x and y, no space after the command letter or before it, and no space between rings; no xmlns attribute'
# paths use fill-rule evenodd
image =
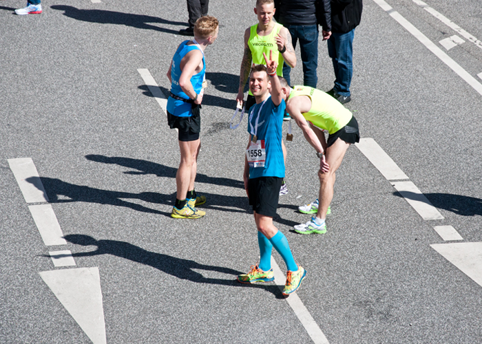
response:
<svg viewBox="0 0 482 344"><path fill-rule="evenodd" d="M124 172L126 174L132 174L132 175L154 174L154 175L157 175L158 177L176 178L176 172L178 171L178 169L174 167L165 166L163 164L158 164L156 162L151 162L147 160L140 160L140 159L133 159L133 158L123 158L118 156L109 157L105 155L96 155L96 154L85 155L85 158L91 161L103 162L104 164L118 164L120 166L125 166L125 167L128 167L129 169L136 170L136 171ZM244 189L244 182L240 180L233 180L229 178L220 178L220 177L209 177L209 175L205 175L202 173L198 173L198 175L196 175L196 182L222 185L222 186L231 186L233 188Z"/></svg>

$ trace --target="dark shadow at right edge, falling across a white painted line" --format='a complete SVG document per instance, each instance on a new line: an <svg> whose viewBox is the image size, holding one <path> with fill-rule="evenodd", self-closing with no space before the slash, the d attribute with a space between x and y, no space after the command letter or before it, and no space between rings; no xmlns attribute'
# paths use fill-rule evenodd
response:
<svg viewBox="0 0 482 344"><path fill-rule="evenodd" d="M393 194L402 197L400 193L395 192ZM410 200L417 200L419 197L419 195L410 192L404 192L404 195ZM423 195L435 208L445 209L462 216L482 215L482 200L480 198L450 193L424 193Z"/></svg>

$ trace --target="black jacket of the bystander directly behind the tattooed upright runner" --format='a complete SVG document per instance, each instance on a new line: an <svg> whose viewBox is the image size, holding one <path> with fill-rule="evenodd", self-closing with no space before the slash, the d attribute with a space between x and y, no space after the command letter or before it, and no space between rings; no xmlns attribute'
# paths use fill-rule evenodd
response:
<svg viewBox="0 0 482 344"><path fill-rule="evenodd" d="M322 25L331 31L330 0L275 0L275 19L283 25Z"/></svg>

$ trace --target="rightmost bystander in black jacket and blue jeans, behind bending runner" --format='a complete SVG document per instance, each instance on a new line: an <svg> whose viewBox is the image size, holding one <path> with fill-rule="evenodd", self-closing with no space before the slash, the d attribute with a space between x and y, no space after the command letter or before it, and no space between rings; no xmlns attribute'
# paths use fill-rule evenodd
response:
<svg viewBox="0 0 482 344"><path fill-rule="evenodd" d="M327 93L339 103L351 100L353 76L353 37L362 19L362 0L331 0L331 28L328 54L335 69L335 86Z"/></svg>

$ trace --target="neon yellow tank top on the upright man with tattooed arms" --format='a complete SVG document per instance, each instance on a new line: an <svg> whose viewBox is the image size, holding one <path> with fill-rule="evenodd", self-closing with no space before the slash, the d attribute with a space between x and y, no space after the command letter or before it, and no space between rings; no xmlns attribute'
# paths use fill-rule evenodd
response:
<svg viewBox="0 0 482 344"><path fill-rule="evenodd" d="M267 36L258 36L258 24L251 26L251 33L249 34L248 46L251 50L251 56L253 56L253 63L255 65L266 65L264 61L264 54L269 58L269 51L273 52L273 59L277 60L276 74L278 76L283 76L283 55L277 50L277 45L275 41L275 36L280 33L283 25L280 23L275 23L273 30ZM251 94L251 91L249 91ZM252 95L252 94L251 94Z"/></svg>

